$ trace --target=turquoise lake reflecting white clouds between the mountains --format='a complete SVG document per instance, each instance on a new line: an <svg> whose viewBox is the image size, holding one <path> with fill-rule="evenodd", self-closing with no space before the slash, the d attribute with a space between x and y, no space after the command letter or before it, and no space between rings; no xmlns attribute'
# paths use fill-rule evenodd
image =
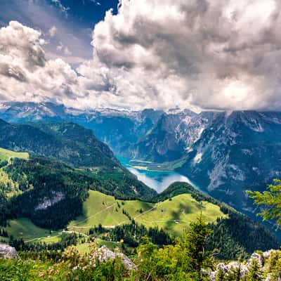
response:
<svg viewBox="0 0 281 281"><path fill-rule="evenodd" d="M192 183L190 179L186 176L176 173L175 171L149 171L143 169L135 169L133 166L130 165L130 160L124 157L117 157L121 164L129 169L132 174L138 177L139 181L142 181L150 188L155 189L157 192L162 192L166 188L168 188L171 183L175 181L183 181L185 183L190 183L192 186L201 190L195 183Z"/></svg>

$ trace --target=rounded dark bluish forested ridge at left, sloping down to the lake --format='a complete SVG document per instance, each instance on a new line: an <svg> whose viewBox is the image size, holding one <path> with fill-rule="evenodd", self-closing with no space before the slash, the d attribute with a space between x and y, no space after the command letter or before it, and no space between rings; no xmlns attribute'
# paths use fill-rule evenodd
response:
<svg viewBox="0 0 281 281"><path fill-rule="evenodd" d="M74 166L120 166L110 148L73 123L9 124L0 119L0 147L54 157Z"/></svg>

